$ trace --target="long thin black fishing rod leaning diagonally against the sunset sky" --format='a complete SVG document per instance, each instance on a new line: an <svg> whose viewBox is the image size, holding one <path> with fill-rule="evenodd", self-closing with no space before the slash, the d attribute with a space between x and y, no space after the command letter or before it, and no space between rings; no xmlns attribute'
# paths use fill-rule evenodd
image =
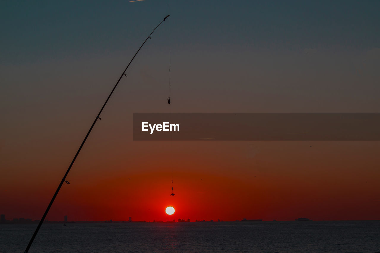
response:
<svg viewBox="0 0 380 253"><path fill-rule="evenodd" d="M163 21L161 21L160 24L161 24L162 22L164 22L165 19L167 19L169 16L170 16L170 14L169 14L168 16L164 17ZM137 53L140 51L141 47L144 46L144 44L146 43L146 41L147 41L148 39L151 39L150 35L152 35L152 33L157 29L158 26L160 26L160 24L158 24L158 25L156 26L156 28L154 28L154 30L149 34L149 36L146 38L146 40L144 41L144 43L142 43L142 45L140 46L139 50L138 50L138 51L136 52L136 54L133 56L132 60L128 63L127 68L129 67L129 65L131 64L131 62L133 61L133 59L135 59L135 57L136 57ZM76 154L75 154L75 156L74 156L74 158L73 158L73 161L71 161L70 166L69 166L69 168L67 169L67 171L66 171L66 173L65 173L65 176L63 176L61 182L59 183L58 188L57 188L57 190L55 191L54 196L53 196L53 198L51 199L51 201L50 201L50 203L49 203L49 206L47 206L47 208L46 208L46 210L45 210L45 212L44 212L44 215L42 216L42 218L41 218L41 220L40 220L40 223L38 223L38 226L37 226L36 230L34 231L34 234L33 234L32 238L30 239L29 244L28 244L28 246L26 247L24 253L28 253L30 246L32 246L33 240L35 239L35 237L36 237L36 235L37 235L37 233L38 233L38 230L40 230L41 225L42 225L42 223L44 222L44 220L45 220L45 218L46 218L46 215L47 215L47 213L49 212L50 207L52 206L55 197L57 197L57 194L58 194L59 190L61 189L63 183L70 184L70 182L68 182L68 181L66 180L66 177L67 177L67 175L69 174L70 169L71 169L71 167L72 167L73 164L74 164L74 161L75 161L76 158L78 157L79 152L81 152L81 149L82 149L84 143L86 142L87 137L89 137L89 135L90 135L90 133L91 133L91 130L92 130L92 128L94 127L95 123L96 123L98 120L101 120L101 118L100 118L99 116L100 116L101 112L103 111L103 109L105 108L105 106L106 106L106 104L107 104L109 98L111 97L112 93L113 93L114 90L116 89L116 87L117 87L117 85L119 84L119 82L120 82L120 80L122 79L122 77L123 77L123 76L127 76L127 74L125 74L125 71L127 71L127 68L125 68L125 70L124 70L123 73L121 74L119 80L118 80L117 83L115 84L114 89L112 89L111 93L109 93L107 100L106 100L105 103L103 104L103 106L102 106L102 108L100 109L98 115L96 116L94 122L92 123L92 125L91 125L91 127L90 127L90 130L89 130L88 133L86 134L86 137L84 138L84 140L83 140L81 146L79 147L78 151L76 152Z"/></svg>

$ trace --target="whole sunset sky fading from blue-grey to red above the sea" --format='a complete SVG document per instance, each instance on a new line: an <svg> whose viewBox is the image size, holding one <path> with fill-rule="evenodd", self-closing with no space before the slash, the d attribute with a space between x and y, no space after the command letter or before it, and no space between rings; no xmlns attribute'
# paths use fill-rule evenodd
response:
<svg viewBox="0 0 380 253"><path fill-rule="evenodd" d="M0 3L0 213L41 218L113 85L170 14L128 68L48 220L379 220L379 142L132 141L133 112L379 112L379 9Z"/></svg>

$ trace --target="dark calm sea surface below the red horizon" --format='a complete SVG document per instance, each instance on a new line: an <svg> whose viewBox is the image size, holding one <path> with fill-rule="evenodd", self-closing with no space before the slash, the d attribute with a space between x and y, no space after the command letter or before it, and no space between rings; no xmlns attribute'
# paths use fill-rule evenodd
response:
<svg viewBox="0 0 380 253"><path fill-rule="evenodd" d="M23 253L37 224L0 225ZM29 252L380 252L380 221L44 224Z"/></svg>

